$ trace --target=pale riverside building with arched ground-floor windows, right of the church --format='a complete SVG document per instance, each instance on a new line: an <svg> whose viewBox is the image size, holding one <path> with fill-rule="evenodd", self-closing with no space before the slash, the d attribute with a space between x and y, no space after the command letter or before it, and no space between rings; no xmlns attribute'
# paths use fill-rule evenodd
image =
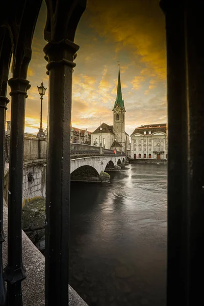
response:
<svg viewBox="0 0 204 306"><path fill-rule="evenodd" d="M131 137L131 158L167 159L167 124L136 127Z"/></svg>

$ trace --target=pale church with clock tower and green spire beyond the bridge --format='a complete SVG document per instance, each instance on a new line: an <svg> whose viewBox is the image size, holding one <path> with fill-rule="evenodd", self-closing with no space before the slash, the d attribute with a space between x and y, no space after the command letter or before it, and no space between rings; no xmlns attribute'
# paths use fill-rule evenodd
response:
<svg viewBox="0 0 204 306"><path fill-rule="evenodd" d="M115 149L127 152L129 135L125 132L125 108L122 99L120 82L120 67L118 70L117 96L113 107L113 125L102 123L91 133L91 145L103 146L106 149Z"/></svg>

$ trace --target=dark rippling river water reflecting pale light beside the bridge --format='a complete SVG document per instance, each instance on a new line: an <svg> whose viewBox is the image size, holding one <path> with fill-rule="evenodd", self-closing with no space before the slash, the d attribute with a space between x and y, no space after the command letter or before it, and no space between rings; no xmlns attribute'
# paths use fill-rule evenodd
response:
<svg viewBox="0 0 204 306"><path fill-rule="evenodd" d="M69 283L89 306L163 306L167 166L110 175L110 184L71 183Z"/></svg>

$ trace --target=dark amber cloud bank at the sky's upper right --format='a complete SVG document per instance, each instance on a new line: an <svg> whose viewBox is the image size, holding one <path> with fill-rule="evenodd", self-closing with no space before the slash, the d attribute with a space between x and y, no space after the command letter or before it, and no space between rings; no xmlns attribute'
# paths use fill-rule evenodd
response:
<svg viewBox="0 0 204 306"><path fill-rule="evenodd" d="M166 79L165 25L159 0L112 2L89 0L90 27L101 37L130 48L139 60Z"/></svg>

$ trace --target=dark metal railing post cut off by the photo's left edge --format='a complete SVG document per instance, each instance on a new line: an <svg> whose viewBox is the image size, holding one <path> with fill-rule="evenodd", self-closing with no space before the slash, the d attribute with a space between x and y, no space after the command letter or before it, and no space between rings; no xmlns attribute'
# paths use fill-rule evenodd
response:
<svg viewBox="0 0 204 306"><path fill-rule="evenodd" d="M5 241L3 230L3 201L4 201L4 166L5 166L5 123L9 99L0 96L0 305L5 303L5 282L3 279L2 243Z"/></svg>

